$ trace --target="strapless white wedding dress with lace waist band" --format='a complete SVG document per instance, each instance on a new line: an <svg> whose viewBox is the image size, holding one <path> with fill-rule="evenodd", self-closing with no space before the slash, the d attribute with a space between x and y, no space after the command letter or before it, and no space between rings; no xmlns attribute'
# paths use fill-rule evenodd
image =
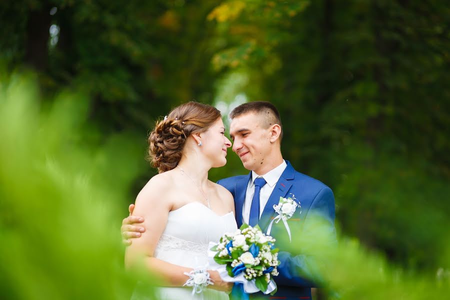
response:
<svg viewBox="0 0 450 300"><path fill-rule="evenodd" d="M154 257L185 267L205 266L210 241L218 242L225 232L237 229L232 212L217 215L200 202L190 202L168 214L167 225L154 250ZM187 276L186 276L187 279ZM148 287L137 283L131 300L151 299ZM211 288L192 295L192 287L157 287L155 296L161 300L228 300L228 294Z"/></svg>

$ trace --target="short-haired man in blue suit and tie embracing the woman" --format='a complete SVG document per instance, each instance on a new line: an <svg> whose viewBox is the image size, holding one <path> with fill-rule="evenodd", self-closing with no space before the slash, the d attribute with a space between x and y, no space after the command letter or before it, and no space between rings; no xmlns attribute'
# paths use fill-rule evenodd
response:
<svg viewBox="0 0 450 300"><path fill-rule="evenodd" d="M327 231L334 235L333 193L322 182L297 172L289 161L282 158L283 131L279 113L273 104L266 101L244 103L234 108L229 117L232 149L239 155L243 166L251 170L247 175L217 182L234 197L237 226L240 227L242 223L258 224L266 232L271 219L277 215L273 205L278 204L280 197L293 194L301 205L287 220L292 242L286 242L285 246L277 244L280 249L279 275L274 277L277 292L273 297L257 293L251 294L250 298L311 299L310 287L314 283L305 275L313 273L314 263L301 252L302 245L295 243L295 240L297 236L311 234L307 232L307 223L312 215L320 215L325 220ZM139 231L138 226L130 225L139 222L138 219L129 216L123 220L122 232L125 237L139 236L139 232L130 232ZM270 235L278 241L288 240L287 229L282 221L273 223Z"/></svg>

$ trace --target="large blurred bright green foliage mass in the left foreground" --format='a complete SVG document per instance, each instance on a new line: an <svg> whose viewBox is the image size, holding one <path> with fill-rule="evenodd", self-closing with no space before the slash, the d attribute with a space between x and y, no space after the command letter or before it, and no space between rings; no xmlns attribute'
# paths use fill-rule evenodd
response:
<svg viewBox="0 0 450 300"><path fill-rule="evenodd" d="M89 146L87 99L45 107L33 82L0 81L0 298L129 298L120 204L143 151L127 133Z"/></svg>

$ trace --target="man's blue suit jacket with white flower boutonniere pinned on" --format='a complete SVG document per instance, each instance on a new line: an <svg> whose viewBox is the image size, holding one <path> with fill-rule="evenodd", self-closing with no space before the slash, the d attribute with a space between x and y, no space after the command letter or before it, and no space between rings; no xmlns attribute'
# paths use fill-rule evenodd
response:
<svg viewBox="0 0 450 300"><path fill-rule="evenodd" d="M278 253L280 265L278 266L279 275L274 277L278 289L273 298L311 299L310 287L315 286L315 284L300 275L312 273L310 269L311 258L308 255L302 254L301 250L292 251L296 246L294 236L308 233L304 232L307 231L305 222L307 222L308 215L316 213L320 214L326 220L329 231L334 235L334 196L328 186L314 178L297 172L289 161L286 160L286 163L287 166L270 194L258 225L263 232L267 231L271 219L276 216L273 205L278 204L280 196L287 197L292 193L300 201L301 213L300 209L297 208L288 220L292 243L285 247L289 247L290 251L283 251L283 245L276 244L280 250ZM233 176L217 181L218 184L228 189L234 197L234 208L238 227L242 224L242 206L250 178L251 172L247 175ZM288 240L287 231L282 221L273 223L270 235L277 240L286 240L286 238ZM250 297L254 296L270 298L270 295L263 295L260 292L250 295Z"/></svg>

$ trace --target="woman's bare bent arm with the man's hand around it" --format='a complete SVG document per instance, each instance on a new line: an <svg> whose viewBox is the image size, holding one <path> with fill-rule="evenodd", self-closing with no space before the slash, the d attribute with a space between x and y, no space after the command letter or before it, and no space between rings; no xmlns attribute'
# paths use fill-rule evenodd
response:
<svg viewBox="0 0 450 300"><path fill-rule="evenodd" d="M150 179L136 197L133 215L142 216L144 218L142 225L151 230L143 232L140 238L126 248L125 267L132 271L143 266L149 272L160 275L168 286L182 286L188 279L183 273L192 269L153 257L173 205L166 178L158 177L156 175Z"/></svg>

